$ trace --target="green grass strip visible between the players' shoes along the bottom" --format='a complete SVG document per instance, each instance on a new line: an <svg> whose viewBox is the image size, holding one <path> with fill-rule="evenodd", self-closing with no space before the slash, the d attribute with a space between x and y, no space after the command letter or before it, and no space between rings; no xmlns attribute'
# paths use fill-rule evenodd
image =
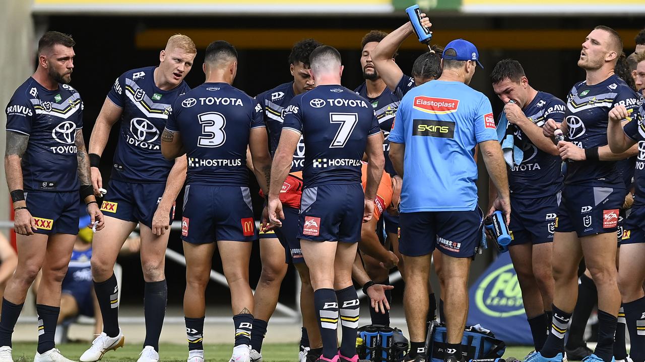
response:
<svg viewBox="0 0 645 362"><path fill-rule="evenodd" d="M83 354L84 350L89 345L86 343L68 343L59 345L58 348L63 352L65 357L74 361ZM266 362L294 362L298 359L297 345L288 344L266 344L263 346L262 354ZM160 361L163 362L183 362L188 357L186 345L163 344L159 348L161 350ZM508 347L504 357L513 356L518 359L526 356L531 347ZM36 350L36 343L14 343L14 361L15 362L32 362ZM204 354L208 362L228 362L231 357L233 345L204 345ZM141 352L139 345L126 345L124 348L119 348L116 351L111 351L106 354L101 361L116 362L116 361L137 361Z"/></svg>

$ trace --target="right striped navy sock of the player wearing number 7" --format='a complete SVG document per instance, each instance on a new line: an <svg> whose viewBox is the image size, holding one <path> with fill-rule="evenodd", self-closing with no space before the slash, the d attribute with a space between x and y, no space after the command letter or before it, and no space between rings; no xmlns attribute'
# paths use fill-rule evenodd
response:
<svg viewBox="0 0 645 362"><path fill-rule="evenodd" d="M339 314L341 316L341 354L342 356L352 358L356 355L356 333L359 329L359 313L361 304L359 296L353 285L336 291L336 298L339 305ZM388 325L390 316L388 315Z"/></svg>

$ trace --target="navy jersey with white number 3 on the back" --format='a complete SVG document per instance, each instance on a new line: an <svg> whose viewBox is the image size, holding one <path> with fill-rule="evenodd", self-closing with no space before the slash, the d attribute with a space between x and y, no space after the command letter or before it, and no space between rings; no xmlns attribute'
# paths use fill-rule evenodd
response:
<svg viewBox="0 0 645 362"><path fill-rule="evenodd" d="M166 124L180 132L186 184L206 186L248 186L246 146L259 127L262 106L228 83L204 83L177 98Z"/></svg>

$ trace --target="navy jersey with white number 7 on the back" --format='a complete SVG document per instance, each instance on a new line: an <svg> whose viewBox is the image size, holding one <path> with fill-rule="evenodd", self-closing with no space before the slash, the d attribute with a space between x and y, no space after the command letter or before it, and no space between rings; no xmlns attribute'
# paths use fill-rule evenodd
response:
<svg viewBox="0 0 645 362"><path fill-rule="evenodd" d="M304 187L361 184L367 137L381 132L372 106L336 85L293 97L284 111L284 129L304 137Z"/></svg>

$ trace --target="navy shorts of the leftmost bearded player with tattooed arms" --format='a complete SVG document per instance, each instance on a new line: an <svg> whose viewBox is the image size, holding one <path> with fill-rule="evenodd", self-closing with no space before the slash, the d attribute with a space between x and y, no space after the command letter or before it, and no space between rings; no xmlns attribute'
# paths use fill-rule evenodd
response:
<svg viewBox="0 0 645 362"><path fill-rule="evenodd" d="M27 209L36 222L37 234L79 233L78 191L55 193L29 191L25 193Z"/></svg>

